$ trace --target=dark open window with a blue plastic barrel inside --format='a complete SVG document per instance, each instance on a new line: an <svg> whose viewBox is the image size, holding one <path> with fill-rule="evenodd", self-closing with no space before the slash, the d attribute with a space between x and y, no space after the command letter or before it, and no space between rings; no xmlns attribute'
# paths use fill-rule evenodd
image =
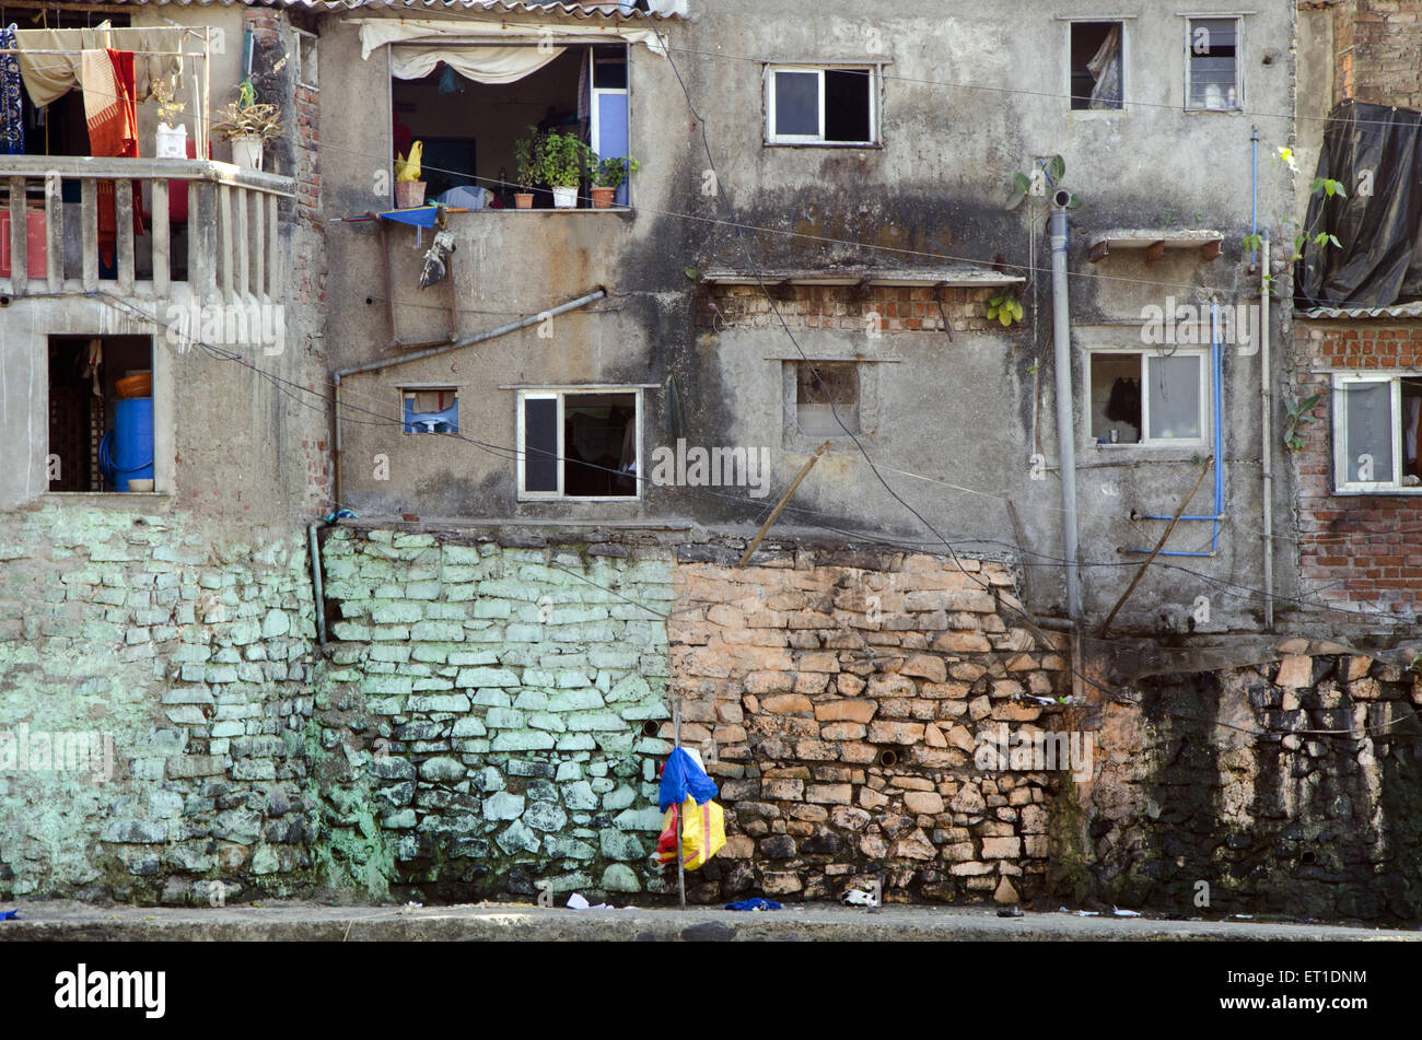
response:
<svg viewBox="0 0 1422 1040"><path fill-rule="evenodd" d="M51 492L154 492L149 337L50 337Z"/></svg>

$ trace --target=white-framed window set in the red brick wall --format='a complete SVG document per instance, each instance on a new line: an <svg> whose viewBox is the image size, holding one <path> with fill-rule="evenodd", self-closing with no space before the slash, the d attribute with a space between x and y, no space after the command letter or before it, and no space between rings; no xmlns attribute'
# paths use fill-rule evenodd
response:
<svg viewBox="0 0 1422 1040"><path fill-rule="evenodd" d="M1422 374L1334 374L1334 489L1422 493Z"/></svg>

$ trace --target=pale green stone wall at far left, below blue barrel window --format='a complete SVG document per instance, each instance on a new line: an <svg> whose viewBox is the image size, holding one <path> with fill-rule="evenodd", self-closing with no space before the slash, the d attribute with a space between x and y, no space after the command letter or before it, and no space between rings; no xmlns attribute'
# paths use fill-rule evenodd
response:
<svg viewBox="0 0 1422 1040"><path fill-rule="evenodd" d="M309 887L300 536L145 507L0 516L0 898Z"/></svg>

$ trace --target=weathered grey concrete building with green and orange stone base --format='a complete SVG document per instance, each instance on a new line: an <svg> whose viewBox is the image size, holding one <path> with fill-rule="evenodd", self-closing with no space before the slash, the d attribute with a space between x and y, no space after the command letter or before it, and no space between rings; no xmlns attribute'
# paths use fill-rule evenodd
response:
<svg viewBox="0 0 1422 1040"><path fill-rule="evenodd" d="M0 156L0 892L660 894L675 712L697 901L1415 916L1418 686L1318 641L1396 617L1307 584L1247 240L1335 48L1216 7L114 4L199 31L188 117L249 78L286 135ZM553 132L640 168L557 207Z"/></svg>

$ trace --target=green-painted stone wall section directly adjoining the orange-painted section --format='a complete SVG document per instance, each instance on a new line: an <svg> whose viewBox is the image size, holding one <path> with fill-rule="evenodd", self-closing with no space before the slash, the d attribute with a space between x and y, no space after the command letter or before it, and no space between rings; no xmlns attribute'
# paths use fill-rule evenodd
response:
<svg viewBox="0 0 1422 1040"><path fill-rule="evenodd" d="M321 556L331 885L442 902L661 891L646 858L671 750L668 550L341 527Z"/></svg>

